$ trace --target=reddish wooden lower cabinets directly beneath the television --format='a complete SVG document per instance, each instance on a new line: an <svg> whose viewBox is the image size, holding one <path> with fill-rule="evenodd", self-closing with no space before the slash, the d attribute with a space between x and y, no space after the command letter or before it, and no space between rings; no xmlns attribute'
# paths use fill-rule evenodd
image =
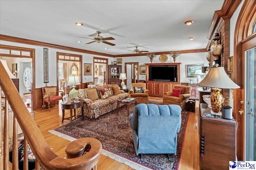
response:
<svg viewBox="0 0 256 170"><path fill-rule="evenodd" d="M164 92L172 92L175 85L180 85L180 83L146 81L146 88L149 90L148 95L160 98L164 96Z"/></svg>

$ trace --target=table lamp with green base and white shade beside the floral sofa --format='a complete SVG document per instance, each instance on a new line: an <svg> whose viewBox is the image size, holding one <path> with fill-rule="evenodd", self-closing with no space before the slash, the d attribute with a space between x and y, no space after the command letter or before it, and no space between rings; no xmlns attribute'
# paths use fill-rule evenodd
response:
<svg viewBox="0 0 256 170"><path fill-rule="evenodd" d="M68 76L67 86L72 86L72 90L70 90L70 92L68 94L71 101L75 100L75 98L78 97L78 92L75 89L75 86L79 85L79 84L80 84L80 82L79 82L79 76L78 75L69 75Z"/></svg>

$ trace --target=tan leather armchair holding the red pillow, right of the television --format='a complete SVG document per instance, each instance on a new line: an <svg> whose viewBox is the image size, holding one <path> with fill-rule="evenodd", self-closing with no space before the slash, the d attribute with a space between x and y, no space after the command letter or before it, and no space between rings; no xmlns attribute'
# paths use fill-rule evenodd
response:
<svg viewBox="0 0 256 170"><path fill-rule="evenodd" d="M172 92L164 92L163 104L176 104L179 105L182 110L186 108L186 101L190 98L190 86L176 85L174 88L181 88L180 97L172 96Z"/></svg>

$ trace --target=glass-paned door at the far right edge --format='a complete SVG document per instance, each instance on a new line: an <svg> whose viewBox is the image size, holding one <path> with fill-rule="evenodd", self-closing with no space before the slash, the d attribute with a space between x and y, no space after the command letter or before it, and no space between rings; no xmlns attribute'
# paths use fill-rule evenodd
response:
<svg viewBox="0 0 256 170"><path fill-rule="evenodd" d="M242 44L244 55L245 160L256 160L256 37Z"/></svg>

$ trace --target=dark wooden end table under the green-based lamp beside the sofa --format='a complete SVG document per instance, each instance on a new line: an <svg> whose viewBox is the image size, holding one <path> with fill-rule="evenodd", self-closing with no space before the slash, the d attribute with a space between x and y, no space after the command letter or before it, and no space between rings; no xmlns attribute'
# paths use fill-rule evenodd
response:
<svg viewBox="0 0 256 170"><path fill-rule="evenodd" d="M82 108L82 119L84 119L84 100L80 99L78 103L75 102L67 102L67 103L63 103L61 102L61 108L62 108L62 123L64 121L64 119L70 120L70 124L72 125L72 121L78 119L78 117L76 116L76 109L77 108ZM65 109L70 109L70 117L66 117L65 116ZM74 109L74 115L72 113L72 109ZM75 117L75 119L72 119L72 117Z"/></svg>

